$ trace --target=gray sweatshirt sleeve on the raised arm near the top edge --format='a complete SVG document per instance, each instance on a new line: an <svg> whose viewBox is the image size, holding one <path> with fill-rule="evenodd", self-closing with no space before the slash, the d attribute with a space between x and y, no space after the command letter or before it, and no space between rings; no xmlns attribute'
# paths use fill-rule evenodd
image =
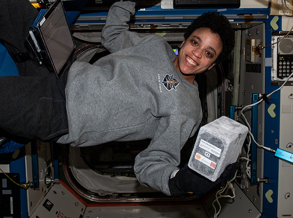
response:
<svg viewBox="0 0 293 218"><path fill-rule="evenodd" d="M102 45L113 53L148 41L156 35L145 36L129 31L130 15L135 14L135 2L118 1L109 9L106 24L102 30Z"/></svg>

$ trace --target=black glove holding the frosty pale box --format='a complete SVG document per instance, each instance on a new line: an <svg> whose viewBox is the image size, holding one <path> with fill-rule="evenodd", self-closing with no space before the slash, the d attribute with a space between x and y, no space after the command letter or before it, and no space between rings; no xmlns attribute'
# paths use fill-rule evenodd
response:
<svg viewBox="0 0 293 218"><path fill-rule="evenodd" d="M169 189L172 196L182 197L188 194L208 193L219 187L223 187L238 169L239 163L229 164L221 176L211 182L189 167L181 169L174 178L169 179Z"/></svg>

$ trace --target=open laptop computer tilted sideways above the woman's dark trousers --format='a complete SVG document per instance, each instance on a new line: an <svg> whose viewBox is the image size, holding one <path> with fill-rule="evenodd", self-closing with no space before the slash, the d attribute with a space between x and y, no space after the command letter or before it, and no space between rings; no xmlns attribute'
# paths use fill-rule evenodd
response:
<svg viewBox="0 0 293 218"><path fill-rule="evenodd" d="M40 64L59 78L75 53L62 1L56 0L48 10L41 10L29 32Z"/></svg>

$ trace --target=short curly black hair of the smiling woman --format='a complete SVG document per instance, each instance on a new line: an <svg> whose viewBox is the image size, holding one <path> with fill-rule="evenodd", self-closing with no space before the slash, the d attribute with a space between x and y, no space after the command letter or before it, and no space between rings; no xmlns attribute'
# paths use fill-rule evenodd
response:
<svg viewBox="0 0 293 218"><path fill-rule="evenodd" d="M223 47L222 52L215 60L216 63L222 63L230 54L235 45L235 31L231 26L229 20L219 12L204 13L198 18L194 19L187 28L187 32L184 34L184 38L193 33L194 30L208 27L212 33L218 34L222 40Z"/></svg>

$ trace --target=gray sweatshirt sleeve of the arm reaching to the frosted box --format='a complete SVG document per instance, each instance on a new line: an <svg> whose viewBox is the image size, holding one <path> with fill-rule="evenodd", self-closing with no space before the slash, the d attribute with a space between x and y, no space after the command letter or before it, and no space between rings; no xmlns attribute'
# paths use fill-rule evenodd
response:
<svg viewBox="0 0 293 218"><path fill-rule="evenodd" d="M171 195L169 177L178 169L180 150L197 126L195 120L184 115L162 117L150 145L136 156L134 172L138 181Z"/></svg>

